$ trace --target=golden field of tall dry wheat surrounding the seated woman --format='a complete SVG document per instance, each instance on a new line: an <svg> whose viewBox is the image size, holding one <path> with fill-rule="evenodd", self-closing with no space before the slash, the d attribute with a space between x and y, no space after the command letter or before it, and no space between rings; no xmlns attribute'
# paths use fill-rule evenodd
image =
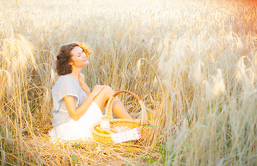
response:
<svg viewBox="0 0 257 166"><path fill-rule="evenodd" d="M1 165L256 165L256 2L2 0L0 19ZM144 140L49 141L54 62L70 42L94 52L91 88L142 98Z"/></svg>

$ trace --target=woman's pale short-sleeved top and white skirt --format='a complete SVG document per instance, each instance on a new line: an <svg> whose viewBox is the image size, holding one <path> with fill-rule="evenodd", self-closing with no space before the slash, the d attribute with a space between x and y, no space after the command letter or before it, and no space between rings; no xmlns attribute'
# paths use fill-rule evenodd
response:
<svg viewBox="0 0 257 166"><path fill-rule="evenodd" d="M101 109L92 102L88 111L77 121L73 120L67 111L63 98L73 95L76 108L79 107L88 95L81 89L78 82L69 75L62 75L56 81L52 89L53 95L53 129L49 136L53 139L77 140L92 138L90 128L95 122L99 122L103 113Z"/></svg>

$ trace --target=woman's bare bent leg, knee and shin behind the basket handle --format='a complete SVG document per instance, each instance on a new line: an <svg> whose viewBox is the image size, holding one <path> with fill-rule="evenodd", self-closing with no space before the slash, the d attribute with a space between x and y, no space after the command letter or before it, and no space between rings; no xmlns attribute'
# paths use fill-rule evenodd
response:
<svg viewBox="0 0 257 166"><path fill-rule="evenodd" d="M99 93L99 95L94 98L94 102L98 105L101 111L103 111L104 107L106 107L106 104L110 97L113 95L113 93L113 89L111 89L110 86L106 86L103 88L101 93ZM124 104L122 104L122 102L117 97L113 101L113 114L117 118L132 119L131 116L128 114L128 111L126 111Z"/></svg>

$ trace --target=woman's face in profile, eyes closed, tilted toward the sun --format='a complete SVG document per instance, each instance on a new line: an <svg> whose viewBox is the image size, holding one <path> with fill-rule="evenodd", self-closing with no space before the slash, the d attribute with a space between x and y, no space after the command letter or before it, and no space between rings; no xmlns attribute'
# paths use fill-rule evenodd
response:
<svg viewBox="0 0 257 166"><path fill-rule="evenodd" d="M82 48L79 46L76 46L71 51L72 57L71 62L69 62L70 65L74 65L76 67L83 67L87 64L89 64L88 59L83 52Z"/></svg>

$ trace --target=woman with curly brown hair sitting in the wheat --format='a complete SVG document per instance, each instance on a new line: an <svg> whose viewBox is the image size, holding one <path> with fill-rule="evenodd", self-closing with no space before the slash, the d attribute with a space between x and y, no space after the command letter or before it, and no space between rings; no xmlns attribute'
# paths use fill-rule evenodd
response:
<svg viewBox="0 0 257 166"><path fill-rule="evenodd" d="M50 136L64 140L91 138L90 127L99 122L102 111L113 95L110 86L96 85L92 91L81 73L89 64L90 50L85 44L66 44L60 48L56 71L60 76L53 86L53 129ZM115 98L113 113L117 118L131 119L124 105Z"/></svg>

